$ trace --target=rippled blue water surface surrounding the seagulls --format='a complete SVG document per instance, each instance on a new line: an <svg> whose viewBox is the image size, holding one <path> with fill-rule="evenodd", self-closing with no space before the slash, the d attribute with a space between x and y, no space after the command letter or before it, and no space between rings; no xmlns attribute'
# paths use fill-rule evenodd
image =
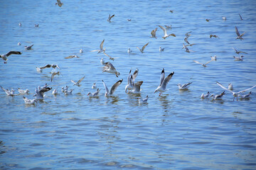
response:
<svg viewBox="0 0 256 170"><path fill-rule="evenodd" d="M0 63L0 85L29 89L48 83L60 91L85 75L73 95L46 93L43 101L26 106L22 96L0 91L0 169L255 169L256 89L250 100L233 101L227 91L222 101L201 100L202 93L223 91L215 82L240 91L256 84L256 1L0 1L0 52L20 50L8 63ZM174 10L170 13L169 10ZM243 20L240 21L238 13ZM109 14L115 14L112 23ZM223 21L222 16L227 20ZM128 22L127 18L132 21ZM205 18L210 18L206 22ZM18 23L22 23L19 27ZM39 28L34 24L38 23ZM150 32L171 25L164 40ZM246 32L235 40L235 26ZM192 31L188 47L183 38ZM220 38L209 38L210 34ZM97 52L100 42L120 72L102 73ZM17 43L21 42L21 46ZM149 45L141 54L138 47ZM33 50L25 51L24 45ZM166 47L159 53L159 46ZM127 48L132 55L127 54ZM235 62L232 47L247 52ZM84 53L78 54L82 48ZM64 57L77 54L79 59ZM207 68L193 62L218 60ZM36 67L59 64L62 75L50 82L51 69L40 74ZM124 93L129 69L138 68L142 97ZM161 69L175 72L163 96L154 94ZM112 86L123 83L106 98L102 79ZM176 84L193 81L188 91ZM96 82L99 98L87 98Z"/></svg>

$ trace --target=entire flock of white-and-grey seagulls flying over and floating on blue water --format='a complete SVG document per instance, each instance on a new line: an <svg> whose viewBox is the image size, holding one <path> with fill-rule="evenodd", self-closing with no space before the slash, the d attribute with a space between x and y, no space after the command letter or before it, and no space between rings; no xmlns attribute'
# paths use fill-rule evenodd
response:
<svg viewBox="0 0 256 170"><path fill-rule="evenodd" d="M58 5L58 6L61 7L61 6L63 6L63 3L60 0L57 0L55 5ZM174 11L170 10L170 12L173 13ZM240 16L240 14L239 14L239 16ZM112 22L111 20L112 20L113 17L114 17L114 14L109 15L109 17L107 18L107 21L111 23ZM242 16L240 16L240 19L242 20ZM223 16L223 20L226 20L226 18L224 16ZM127 21L131 21L131 19L127 19ZM206 21L209 22L210 19L206 18ZM22 24L19 23L18 26L22 26ZM38 27L38 26L39 26L38 24L35 25L35 27ZM170 37L170 36L176 37L176 35L174 33L167 34L167 29L171 28L171 26L165 26L165 27L164 26L159 26L159 27L161 28L161 30L164 31L164 35L162 37L162 38L164 38L164 40L166 38ZM154 30L151 30L151 38L156 38L156 31L157 30L158 30L158 28L155 28ZM185 45L185 43L183 43L183 49L185 49L186 52L193 52L192 50L188 49L188 46L191 47L192 45L195 45L195 44L191 44L190 42L188 42L188 38L191 36L190 33L192 33L192 32L189 31L188 33L186 33L185 38L184 38L184 42L186 42L186 45ZM237 37L235 39L243 40L242 36L245 35L245 33L240 34L239 31L238 31L238 28L236 26L235 26L235 33L237 35ZM210 38L219 38L219 37L218 37L218 35L210 35ZM102 42L100 43L100 49L92 50L91 52L97 52L97 54L102 52L104 55L109 57L109 60L114 61L114 59L117 59L117 58L110 57L110 55L107 55L106 49L103 48L104 42L105 42L105 40L102 40ZM21 42L18 42L18 45L21 45ZM137 49L140 52L144 53L144 50L145 50L147 45L149 45L149 42L147 42L145 45L143 45L142 48L137 47ZM32 47L33 47L33 45L25 46L25 50L32 50ZM235 48L233 48L233 50L235 50ZM164 47L160 46L159 47L159 52L163 52L163 51L164 51ZM83 52L83 50L80 49L80 53L82 53L82 52ZM128 48L127 52L129 54L131 54L132 50L130 48ZM240 55L240 53L247 54L247 52L242 52L242 51L238 51L238 50L235 50L235 53L238 54L238 55ZM4 64L6 64L7 60L8 60L8 57L10 55L21 55L21 54L22 53L18 52L18 51L10 51L10 52L6 53L6 55L0 55L0 57L4 60ZM65 59L71 59L71 58L74 58L74 57L79 58L77 55L70 55L68 57L65 57ZM244 57L244 56L242 56L242 55L240 57L235 57L234 56L234 59L236 61L242 61L242 57ZM193 62L196 62L197 64L201 64L203 67L207 67L207 64L209 64L212 61L216 61L217 57L213 56L213 57L210 57L210 59L211 60L206 62L205 64L203 64L201 62L198 62L196 60L193 60ZM110 74L115 74L116 77L119 77L120 73L117 72L117 69L115 69L114 65L111 62L105 62L103 60L103 58L101 58L100 63L103 65L102 73L107 72L107 73L110 73ZM43 67L36 67L36 71L41 73L41 72L43 72L43 69L46 69L46 68L53 68L53 71L51 72L50 81L53 81L53 78L54 78L55 75L61 74L60 71L58 71L58 72L56 71L56 69L60 69L58 64L46 64ZM144 81L135 82L138 74L139 74L139 69L135 69L133 74L132 74L132 69L129 70L129 74L128 74L128 77L127 77L127 85L125 86L125 89L124 89L126 94L140 94L141 93L141 91L142 91L141 86L144 83ZM169 81L171 80L171 78L173 76L174 76L174 72L171 72L170 74L168 74L167 77L165 77L164 69L162 69L161 74L160 74L160 84L159 84L159 86L156 87L156 89L154 91L154 94L159 92L159 96L161 96L165 91L168 91L169 89L167 89L167 85L169 84ZM74 81L74 80L70 80L70 81L73 83L73 86L80 87L82 85L81 82L82 82L83 79L85 79L85 76L83 76L78 81ZM116 91L117 88L120 86L120 84L122 84L122 81L123 81L123 79L119 79L116 83L114 83L111 86L111 89L109 90L107 88L107 84L105 84L105 81L102 80L102 84L105 88L105 96L112 96L114 94L114 91ZM192 82L188 82L186 84L177 84L177 86L178 86L179 90L187 90L188 87L191 84L192 84ZM229 84L228 88L226 88L225 86L220 84L218 81L216 82L216 84L218 84L218 86L220 86L220 88L224 89L225 91L230 92L234 97L233 101L235 101L235 98L238 101L238 97L240 97L240 98L249 98L250 95L252 94L251 91L249 92L249 94L245 94L245 95L242 95L242 93L245 92L245 91L249 91L250 89L253 89L253 88L256 87L256 85L255 85L255 86L250 87L249 89L245 89L245 90L242 90L242 91L235 92L235 91L233 91L233 84ZM4 89L4 87L2 87L2 86L0 86L0 87L6 93L7 96L26 95L26 94L29 94L29 92L30 92L28 89L23 90L23 89L18 88L19 94L14 94L14 89L11 89L11 91L9 91L8 89ZM44 96L45 96L45 93L50 91L51 89L52 89L52 87L48 87L48 84L46 84L43 87L38 86L38 87L36 87L35 94L33 95L36 98L28 99L25 96L23 96L23 101L26 104L35 104L35 103L37 103L37 100L43 99ZM89 96L89 97L99 97L101 89L97 88L96 83L92 84L92 89L97 89L97 90L94 91L94 92L88 92L87 96ZM73 90L74 89L69 89L69 86L61 87L61 91L65 95L72 94ZM201 98L213 98L213 100L218 100L218 99L221 99L225 95L225 91L223 91L221 94L210 94L210 92L208 91L206 94L201 94ZM53 95L58 94L58 88L53 89L52 94ZM137 99L138 99L139 103L147 103L147 101L149 99L149 96L146 96L145 98L142 98L141 96L139 96Z"/></svg>

